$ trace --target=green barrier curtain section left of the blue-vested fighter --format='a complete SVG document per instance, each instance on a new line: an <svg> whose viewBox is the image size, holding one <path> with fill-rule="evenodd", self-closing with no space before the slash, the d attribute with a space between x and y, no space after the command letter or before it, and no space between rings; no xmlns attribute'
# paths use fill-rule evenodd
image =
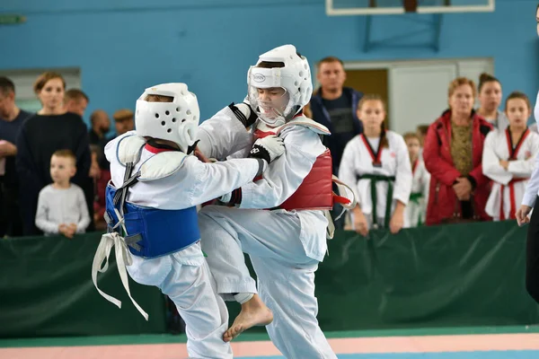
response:
<svg viewBox="0 0 539 359"><path fill-rule="evenodd" d="M0 240L0 337L98 336L165 331L159 289L129 281L133 298L149 314L138 313L110 260L98 283L118 298L119 309L92 282L93 253L101 234ZM114 258L112 250L111 258Z"/></svg>

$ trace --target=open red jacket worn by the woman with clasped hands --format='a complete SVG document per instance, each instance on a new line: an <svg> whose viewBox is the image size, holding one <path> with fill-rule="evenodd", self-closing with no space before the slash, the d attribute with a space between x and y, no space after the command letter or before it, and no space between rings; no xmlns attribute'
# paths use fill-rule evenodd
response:
<svg viewBox="0 0 539 359"><path fill-rule="evenodd" d="M485 206L490 194L490 180L482 173L482 150L485 137L492 129L489 122L475 112L472 114L472 156L473 170L469 176L475 180L473 189L474 215L482 221L490 221L485 213ZM427 206L427 225L442 223L454 215L462 215L460 203L456 197L453 184L462 177L455 169L451 157L451 110L446 110L440 118L429 126L423 148L425 167L429 171L430 190Z"/></svg>

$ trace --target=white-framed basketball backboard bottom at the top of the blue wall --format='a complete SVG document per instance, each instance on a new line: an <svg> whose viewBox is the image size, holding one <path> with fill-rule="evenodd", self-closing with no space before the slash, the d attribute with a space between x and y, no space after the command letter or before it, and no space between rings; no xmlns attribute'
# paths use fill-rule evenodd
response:
<svg viewBox="0 0 539 359"><path fill-rule="evenodd" d="M495 0L325 0L325 2L328 15L342 16L401 13L488 13L494 11Z"/></svg>

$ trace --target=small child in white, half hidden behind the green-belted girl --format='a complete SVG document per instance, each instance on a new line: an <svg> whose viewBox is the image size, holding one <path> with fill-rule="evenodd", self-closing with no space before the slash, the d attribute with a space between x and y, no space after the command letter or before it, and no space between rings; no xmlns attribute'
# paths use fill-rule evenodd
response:
<svg viewBox="0 0 539 359"><path fill-rule="evenodd" d="M411 194L404 210L404 228L418 227L425 223L429 202L430 173L420 157L420 137L409 132L404 134L411 163Z"/></svg>

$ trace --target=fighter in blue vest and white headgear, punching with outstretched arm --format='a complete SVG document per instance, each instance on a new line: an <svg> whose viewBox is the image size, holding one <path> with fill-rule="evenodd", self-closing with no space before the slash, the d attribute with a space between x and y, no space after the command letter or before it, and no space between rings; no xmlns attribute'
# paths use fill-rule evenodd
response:
<svg viewBox="0 0 539 359"><path fill-rule="evenodd" d="M261 175L284 152L273 136L254 144L266 157L205 163L192 155L199 125L199 105L184 83L146 89L137 101L136 130L110 141L104 234L93 260L93 283L111 247L116 246L119 275L128 290L129 276L155 285L176 304L186 323L191 357L232 358L222 339L228 324L225 302L200 249L196 206L229 193ZM120 302L102 293L120 307ZM147 314L129 298L147 320Z"/></svg>

